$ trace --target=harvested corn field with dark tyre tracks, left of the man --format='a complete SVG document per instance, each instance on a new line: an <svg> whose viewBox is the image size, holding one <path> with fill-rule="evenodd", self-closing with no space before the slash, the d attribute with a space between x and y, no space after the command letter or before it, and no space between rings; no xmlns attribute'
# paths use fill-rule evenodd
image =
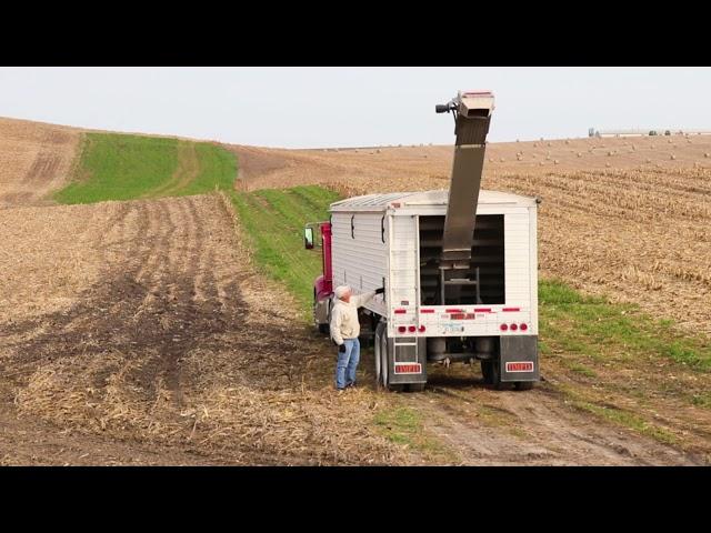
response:
<svg viewBox="0 0 711 533"><path fill-rule="evenodd" d="M2 212L2 231L13 227L3 242L31 252L1 258L11 274L0 291L6 464L32 456L23 435L42 424L66 436L59 463L405 461L369 430L381 404L373 394L343 401L331 391L331 351L294 325L291 298L250 269L227 209L210 195ZM88 222L63 259L56 252L76 231L60 219ZM42 220L54 227L49 247ZM44 293L48 279L62 281ZM11 312L18 300L27 305ZM92 450L71 452L78 435Z"/></svg>

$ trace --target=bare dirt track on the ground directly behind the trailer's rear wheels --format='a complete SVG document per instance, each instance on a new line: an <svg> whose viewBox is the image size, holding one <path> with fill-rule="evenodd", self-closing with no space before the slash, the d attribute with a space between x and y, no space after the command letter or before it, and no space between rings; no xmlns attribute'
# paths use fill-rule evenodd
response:
<svg viewBox="0 0 711 533"><path fill-rule="evenodd" d="M699 457L592 420L541 383L533 391L493 391L472 380L434 378L408 401L425 428L470 465L692 465ZM471 383L471 384L470 384Z"/></svg>

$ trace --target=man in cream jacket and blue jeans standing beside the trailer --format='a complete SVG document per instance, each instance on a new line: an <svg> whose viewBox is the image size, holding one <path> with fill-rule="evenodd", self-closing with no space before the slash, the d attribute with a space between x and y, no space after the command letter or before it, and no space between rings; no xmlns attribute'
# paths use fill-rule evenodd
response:
<svg viewBox="0 0 711 533"><path fill-rule="evenodd" d="M331 339L338 344L336 389L339 391L356 385L356 369L360 361L358 308L362 308L371 298L384 291L378 289L354 295L348 285L337 286L333 291L336 304L331 310Z"/></svg>

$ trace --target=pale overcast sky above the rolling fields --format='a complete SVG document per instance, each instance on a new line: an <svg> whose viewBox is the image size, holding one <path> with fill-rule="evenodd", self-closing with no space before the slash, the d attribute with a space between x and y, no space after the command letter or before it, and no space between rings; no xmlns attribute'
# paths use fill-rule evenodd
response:
<svg viewBox="0 0 711 533"><path fill-rule="evenodd" d="M711 68L2 68L0 117L283 148L450 144L435 114L490 89L489 141L711 129Z"/></svg>

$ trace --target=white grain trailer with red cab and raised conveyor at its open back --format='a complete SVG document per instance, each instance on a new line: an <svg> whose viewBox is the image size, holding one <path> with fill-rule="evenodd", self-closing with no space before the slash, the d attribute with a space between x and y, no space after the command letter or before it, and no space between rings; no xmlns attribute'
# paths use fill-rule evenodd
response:
<svg viewBox="0 0 711 533"><path fill-rule="evenodd" d="M481 91L438 105L454 111L457 124L449 191L350 198L332 203L331 220L319 224L314 321L328 331L333 286L384 286L364 314L387 389L421 390L428 363L480 361L495 388L524 390L539 380L539 201L480 191L492 109L493 95ZM307 243L312 248L312 230Z"/></svg>

